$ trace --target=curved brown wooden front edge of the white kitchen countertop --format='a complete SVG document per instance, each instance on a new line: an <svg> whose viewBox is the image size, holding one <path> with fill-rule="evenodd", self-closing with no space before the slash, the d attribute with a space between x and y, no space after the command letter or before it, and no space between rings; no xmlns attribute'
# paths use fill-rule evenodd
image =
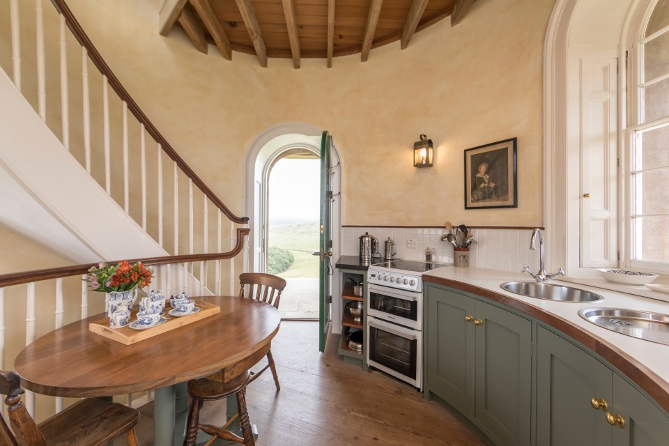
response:
<svg viewBox="0 0 669 446"><path fill-rule="evenodd" d="M490 289L481 288L465 282L459 282L454 279L445 279L443 277L435 277L430 275L423 275L425 282L433 284L451 286L452 288L470 293L480 295L484 298L489 298L495 302L500 302L504 305L517 309L520 312L532 316L537 320L544 322L551 327L560 330L564 334L576 339L597 355L603 357L605 360L613 364L617 369L622 371L629 379L636 385L642 388L652 399L656 401L664 410L669 412L669 383L658 376L654 371L639 362L633 357L627 355L608 341L597 337L596 335L583 330L583 328L572 324L560 316L546 313L543 309L530 305L521 300L514 299L510 296L495 293Z"/></svg>

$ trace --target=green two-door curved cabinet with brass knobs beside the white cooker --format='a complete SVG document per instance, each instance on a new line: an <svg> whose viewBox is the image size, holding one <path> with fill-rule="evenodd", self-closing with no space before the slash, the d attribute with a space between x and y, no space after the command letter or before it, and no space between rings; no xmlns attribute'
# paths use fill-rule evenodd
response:
<svg viewBox="0 0 669 446"><path fill-rule="evenodd" d="M532 321L429 284L426 397L435 394L498 445L530 445Z"/></svg>

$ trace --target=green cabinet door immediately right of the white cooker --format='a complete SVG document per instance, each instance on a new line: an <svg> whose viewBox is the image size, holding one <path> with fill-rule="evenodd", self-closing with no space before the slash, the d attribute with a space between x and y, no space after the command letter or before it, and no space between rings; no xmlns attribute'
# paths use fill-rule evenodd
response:
<svg viewBox="0 0 669 446"><path fill-rule="evenodd" d="M431 392L464 415L474 413L475 300L442 289L429 289L427 379Z"/></svg>

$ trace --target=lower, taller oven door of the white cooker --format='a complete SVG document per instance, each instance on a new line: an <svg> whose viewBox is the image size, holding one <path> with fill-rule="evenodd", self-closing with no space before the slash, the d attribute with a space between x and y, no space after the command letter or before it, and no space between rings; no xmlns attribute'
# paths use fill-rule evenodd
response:
<svg viewBox="0 0 669 446"><path fill-rule="evenodd" d="M422 391L422 332L367 319L367 364Z"/></svg>

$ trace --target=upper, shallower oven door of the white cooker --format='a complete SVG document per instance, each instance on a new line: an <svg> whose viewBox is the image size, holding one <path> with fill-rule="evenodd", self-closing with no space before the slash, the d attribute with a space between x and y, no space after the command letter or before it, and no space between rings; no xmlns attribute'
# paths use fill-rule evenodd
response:
<svg viewBox="0 0 669 446"><path fill-rule="evenodd" d="M367 286L367 316L421 330L422 293Z"/></svg>

